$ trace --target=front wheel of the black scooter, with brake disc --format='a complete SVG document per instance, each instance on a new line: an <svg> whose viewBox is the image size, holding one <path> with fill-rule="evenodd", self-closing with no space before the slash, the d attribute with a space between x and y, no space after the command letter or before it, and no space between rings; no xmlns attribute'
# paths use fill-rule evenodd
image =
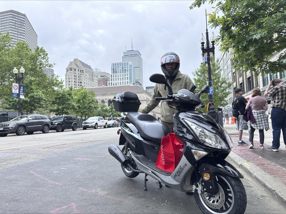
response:
<svg viewBox="0 0 286 214"><path fill-rule="evenodd" d="M207 192L194 193L195 200L203 213L244 213L246 209L245 188L239 178L217 175L218 192L212 197ZM200 180L203 182L203 180Z"/></svg>

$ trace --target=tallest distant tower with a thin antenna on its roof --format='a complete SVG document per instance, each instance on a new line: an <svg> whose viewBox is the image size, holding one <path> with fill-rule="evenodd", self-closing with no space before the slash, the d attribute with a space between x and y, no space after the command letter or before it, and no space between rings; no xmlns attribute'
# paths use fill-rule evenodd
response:
<svg viewBox="0 0 286 214"><path fill-rule="evenodd" d="M123 52L122 62L133 62L135 67L135 85L143 89L143 63L141 54L138 50L133 50L133 43L131 42L131 49Z"/></svg>

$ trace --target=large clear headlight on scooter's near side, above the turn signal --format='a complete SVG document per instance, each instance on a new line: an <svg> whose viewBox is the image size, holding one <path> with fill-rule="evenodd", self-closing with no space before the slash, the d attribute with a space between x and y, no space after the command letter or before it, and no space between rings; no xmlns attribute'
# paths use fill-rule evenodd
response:
<svg viewBox="0 0 286 214"><path fill-rule="evenodd" d="M202 144L218 149L228 149L225 142L217 134L209 132L208 130L205 130L200 126L195 125L188 120L184 121L189 125L189 127L194 131L194 133L197 134Z"/></svg>

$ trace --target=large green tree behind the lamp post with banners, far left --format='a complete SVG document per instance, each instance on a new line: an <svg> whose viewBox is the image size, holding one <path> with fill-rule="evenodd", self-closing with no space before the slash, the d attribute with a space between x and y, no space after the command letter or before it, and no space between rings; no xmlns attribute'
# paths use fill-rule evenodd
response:
<svg viewBox="0 0 286 214"><path fill-rule="evenodd" d="M24 67L25 99L21 99L21 114L23 110L30 113L44 112L51 107L55 91L63 88L63 81L58 75L49 78L42 67L53 67L43 47L31 50L26 42L18 42L15 48L10 48L9 34L0 33L0 95L1 107L9 110L18 110L18 99L12 98L12 83L15 82L12 70ZM18 75L21 75L18 73ZM8 105L9 104L9 105Z"/></svg>

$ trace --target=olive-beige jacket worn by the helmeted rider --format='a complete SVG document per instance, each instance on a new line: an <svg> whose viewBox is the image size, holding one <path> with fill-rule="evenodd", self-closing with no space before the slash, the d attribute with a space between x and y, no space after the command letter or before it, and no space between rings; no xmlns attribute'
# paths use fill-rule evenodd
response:
<svg viewBox="0 0 286 214"><path fill-rule="evenodd" d="M168 83L170 84L169 81ZM187 74L182 74L180 71L178 71L171 86L173 93L176 93L180 89L189 90L193 84L194 84L193 81ZM195 90L194 93L197 94L198 93L197 90ZM145 108L143 108L142 112L148 114L160 103L160 100L155 100L155 97L166 97L167 94L168 94L168 88L166 87L165 89L164 84L156 83L151 99L149 100ZM162 102L160 112L162 121L173 123L173 115L178 111L176 109L170 108L168 106L168 102Z"/></svg>

